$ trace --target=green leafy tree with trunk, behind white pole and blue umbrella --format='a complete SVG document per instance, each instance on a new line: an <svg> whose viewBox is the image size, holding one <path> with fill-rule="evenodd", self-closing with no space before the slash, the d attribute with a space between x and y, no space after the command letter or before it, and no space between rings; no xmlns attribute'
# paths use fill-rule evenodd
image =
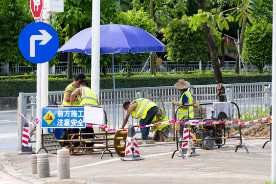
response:
<svg viewBox="0 0 276 184"><path fill-rule="evenodd" d="M66 8L65 8L66 7ZM101 25L109 24L110 22L120 22L119 15L121 14L120 5L117 1L101 1ZM91 27L91 15L92 15L92 1L91 0L67 0L66 5L64 1L64 13L57 14L59 21L63 22L66 27L64 32L68 33L65 41L73 37L73 34L79 31ZM75 25L73 29L73 25ZM111 65L111 56L101 56L100 65L103 68ZM117 56L115 56L117 58ZM78 65L83 65L86 68L91 68L91 57L79 53L68 53L68 65L67 67L73 68L73 59ZM106 59L106 60L105 60ZM71 62L69 62L71 61ZM114 61L118 61L117 59ZM68 69L67 69L68 71ZM72 71L73 72L73 71ZM72 78L67 72L67 78ZM105 74L106 75L106 74Z"/></svg>

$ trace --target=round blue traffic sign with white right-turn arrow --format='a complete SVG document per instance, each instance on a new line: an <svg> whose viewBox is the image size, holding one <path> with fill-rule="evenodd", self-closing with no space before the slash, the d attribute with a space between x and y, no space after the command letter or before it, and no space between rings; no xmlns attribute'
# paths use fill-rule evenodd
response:
<svg viewBox="0 0 276 184"><path fill-rule="evenodd" d="M18 45L28 61L44 63L56 55L59 39L56 30L49 24L33 22L21 31Z"/></svg>

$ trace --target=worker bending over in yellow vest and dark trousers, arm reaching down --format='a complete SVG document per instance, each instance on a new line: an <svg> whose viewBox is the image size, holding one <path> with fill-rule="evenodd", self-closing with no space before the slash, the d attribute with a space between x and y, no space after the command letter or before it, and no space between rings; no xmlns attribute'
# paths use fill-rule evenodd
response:
<svg viewBox="0 0 276 184"><path fill-rule="evenodd" d="M125 102L123 107L125 110L127 110L127 114L123 121L123 125L121 127L122 129L127 124L130 114L133 118L141 118L139 124L140 126L144 126L151 124L151 121L158 111L158 106L154 102L144 98L136 99L131 103ZM148 139L149 130L150 127L141 128L142 140Z"/></svg>

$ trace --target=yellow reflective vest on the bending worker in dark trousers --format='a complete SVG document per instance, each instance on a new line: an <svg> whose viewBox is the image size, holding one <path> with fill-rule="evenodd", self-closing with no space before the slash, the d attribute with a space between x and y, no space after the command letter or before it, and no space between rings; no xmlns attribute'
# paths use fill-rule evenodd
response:
<svg viewBox="0 0 276 184"><path fill-rule="evenodd" d="M147 116L148 110L151 107L157 106L154 102L144 98L136 99L130 104L133 104L134 102L137 102L137 107L131 112L131 115L133 118L141 117L142 119L145 119Z"/></svg>

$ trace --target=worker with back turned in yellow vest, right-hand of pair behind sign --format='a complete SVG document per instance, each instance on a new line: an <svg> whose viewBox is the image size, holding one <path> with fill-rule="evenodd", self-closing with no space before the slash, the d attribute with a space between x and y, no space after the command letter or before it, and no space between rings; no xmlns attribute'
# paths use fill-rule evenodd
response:
<svg viewBox="0 0 276 184"><path fill-rule="evenodd" d="M80 81L79 88L77 88L71 95L70 105L74 103L74 97L77 96L80 105L84 106L100 106L96 94L88 87L88 83L85 80ZM81 129L81 133L93 133L93 128L86 127L84 130ZM85 135L84 139L93 139L93 135ZM94 143L85 143L86 147L93 147ZM85 149L84 153L93 152L94 149Z"/></svg>

